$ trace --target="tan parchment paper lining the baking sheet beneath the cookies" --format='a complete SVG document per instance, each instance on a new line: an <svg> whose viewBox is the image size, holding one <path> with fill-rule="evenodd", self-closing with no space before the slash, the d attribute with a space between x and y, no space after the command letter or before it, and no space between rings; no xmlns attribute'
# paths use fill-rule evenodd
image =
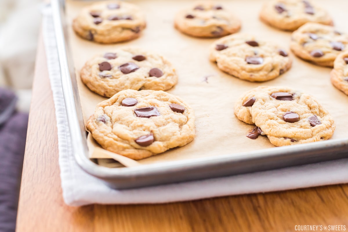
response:
<svg viewBox="0 0 348 232"><path fill-rule="evenodd" d="M179 75L179 82L168 92L180 96L195 110L196 138L184 147L140 160L140 163L211 157L274 147L265 136L259 136L255 140L247 138L245 135L254 126L239 121L234 114L235 100L245 91L260 85L288 86L315 96L335 119L337 127L332 139L348 137L348 96L331 85L330 68L310 64L291 54L294 58L292 68L280 77L261 83L240 80L223 73L214 63L209 62L209 46L215 39L193 38L174 29L175 13L189 6L191 1L134 0L130 2L139 5L147 16L147 28L139 39L114 45L101 45L79 38L71 26L69 38L85 121L93 114L96 104L106 99L90 91L80 80L79 71L90 57L99 53L112 52L113 49L122 46L138 46L164 55L174 65ZM289 47L291 32L279 31L260 22L259 10L265 0L221 0L218 2L242 20L241 32L252 33L260 39L274 41L284 48ZM316 0L316 2L330 12L337 30L347 31L348 1ZM71 24L78 11L91 3L92 1L68 0L66 4L68 22ZM207 82L205 82L204 79L207 76Z"/></svg>

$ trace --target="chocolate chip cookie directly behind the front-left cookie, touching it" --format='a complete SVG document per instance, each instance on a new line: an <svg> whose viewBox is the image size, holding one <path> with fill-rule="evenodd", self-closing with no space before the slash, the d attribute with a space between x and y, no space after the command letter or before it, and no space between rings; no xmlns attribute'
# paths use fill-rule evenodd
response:
<svg viewBox="0 0 348 232"><path fill-rule="evenodd" d="M177 83L175 69L167 59L135 47L93 57L80 76L90 90L105 97L124 89L168 90Z"/></svg>

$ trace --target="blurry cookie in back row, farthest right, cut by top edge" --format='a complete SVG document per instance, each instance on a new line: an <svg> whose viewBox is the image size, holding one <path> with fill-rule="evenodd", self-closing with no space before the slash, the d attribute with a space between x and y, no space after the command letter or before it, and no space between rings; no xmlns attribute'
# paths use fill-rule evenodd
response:
<svg viewBox="0 0 348 232"><path fill-rule="evenodd" d="M327 11L307 0L272 0L260 12L263 22L281 30L294 31L305 23L333 25Z"/></svg>

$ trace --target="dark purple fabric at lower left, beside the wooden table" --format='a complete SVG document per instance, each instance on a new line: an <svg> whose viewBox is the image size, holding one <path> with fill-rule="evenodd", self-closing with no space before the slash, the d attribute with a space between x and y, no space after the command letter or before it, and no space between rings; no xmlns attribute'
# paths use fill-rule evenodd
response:
<svg viewBox="0 0 348 232"><path fill-rule="evenodd" d="M0 126L0 231L15 231L28 115L13 113Z"/></svg>

